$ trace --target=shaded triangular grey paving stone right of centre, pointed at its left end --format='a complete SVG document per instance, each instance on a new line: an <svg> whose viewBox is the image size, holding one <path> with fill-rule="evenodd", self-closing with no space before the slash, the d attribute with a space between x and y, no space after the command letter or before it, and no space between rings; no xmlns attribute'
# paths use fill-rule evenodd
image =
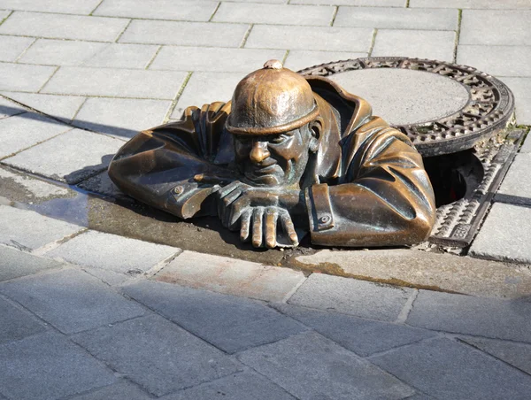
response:
<svg viewBox="0 0 531 400"><path fill-rule="evenodd" d="M362 357L435 335L424 329L359 319L336 312L319 312L290 304L273 305L280 312Z"/></svg>

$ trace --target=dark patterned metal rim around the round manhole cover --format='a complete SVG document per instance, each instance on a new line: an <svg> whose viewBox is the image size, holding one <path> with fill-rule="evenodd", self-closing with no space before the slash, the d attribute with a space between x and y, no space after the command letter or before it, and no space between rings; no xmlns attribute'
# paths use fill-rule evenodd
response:
<svg viewBox="0 0 531 400"><path fill-rule="evenodd" d="M303 75L330 76L367 68L396 68L436 73L457 81L468 91L465 106L441 119L394 125L404 132L424 157L471 149L479 140L507 126L514 109L512 91L502 81L467 65L421 58L356 58L314 65ZM355 94L355 93L354 93Z"/></svg>

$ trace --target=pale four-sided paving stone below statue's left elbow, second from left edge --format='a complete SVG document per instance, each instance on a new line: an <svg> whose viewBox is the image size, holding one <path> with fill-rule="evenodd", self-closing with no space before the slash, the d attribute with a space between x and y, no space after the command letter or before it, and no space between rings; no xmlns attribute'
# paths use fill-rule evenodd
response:
<svg viewBox="0 0 531 400"><path fill-rule="evenodd" d="M143 273L180 249L89 230L46 253L73 264L117 273Z"/></svg>

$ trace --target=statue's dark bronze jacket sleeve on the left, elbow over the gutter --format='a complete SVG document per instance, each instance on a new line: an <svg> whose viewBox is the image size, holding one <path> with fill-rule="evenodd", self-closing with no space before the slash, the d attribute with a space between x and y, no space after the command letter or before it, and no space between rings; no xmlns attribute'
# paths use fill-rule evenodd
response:
<svg viewBox="0 0 531 400"><path fill-rule="evenodd" d="M205 208L213 185L194 177L232 174L224 164L230 160L223 129L229 110L224 103L189 107L180 121L139 133L114 156L109 176L143 203L182 219L195 216Z"/></svg>

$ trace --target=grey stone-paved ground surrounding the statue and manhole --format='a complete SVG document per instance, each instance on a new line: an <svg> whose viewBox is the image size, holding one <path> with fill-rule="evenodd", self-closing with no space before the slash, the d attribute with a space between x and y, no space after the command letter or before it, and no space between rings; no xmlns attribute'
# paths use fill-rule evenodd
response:
<svg viewBox="0 0 531 400"><path fill-rule="evenodd" d="M0 400L528 399L530 141L466 257L201 254L135 206L89 223L120 206L81 188L119 196L125 141L270 58L472 65L527 129L529 20L529 0L0 0Z"/></svg>

